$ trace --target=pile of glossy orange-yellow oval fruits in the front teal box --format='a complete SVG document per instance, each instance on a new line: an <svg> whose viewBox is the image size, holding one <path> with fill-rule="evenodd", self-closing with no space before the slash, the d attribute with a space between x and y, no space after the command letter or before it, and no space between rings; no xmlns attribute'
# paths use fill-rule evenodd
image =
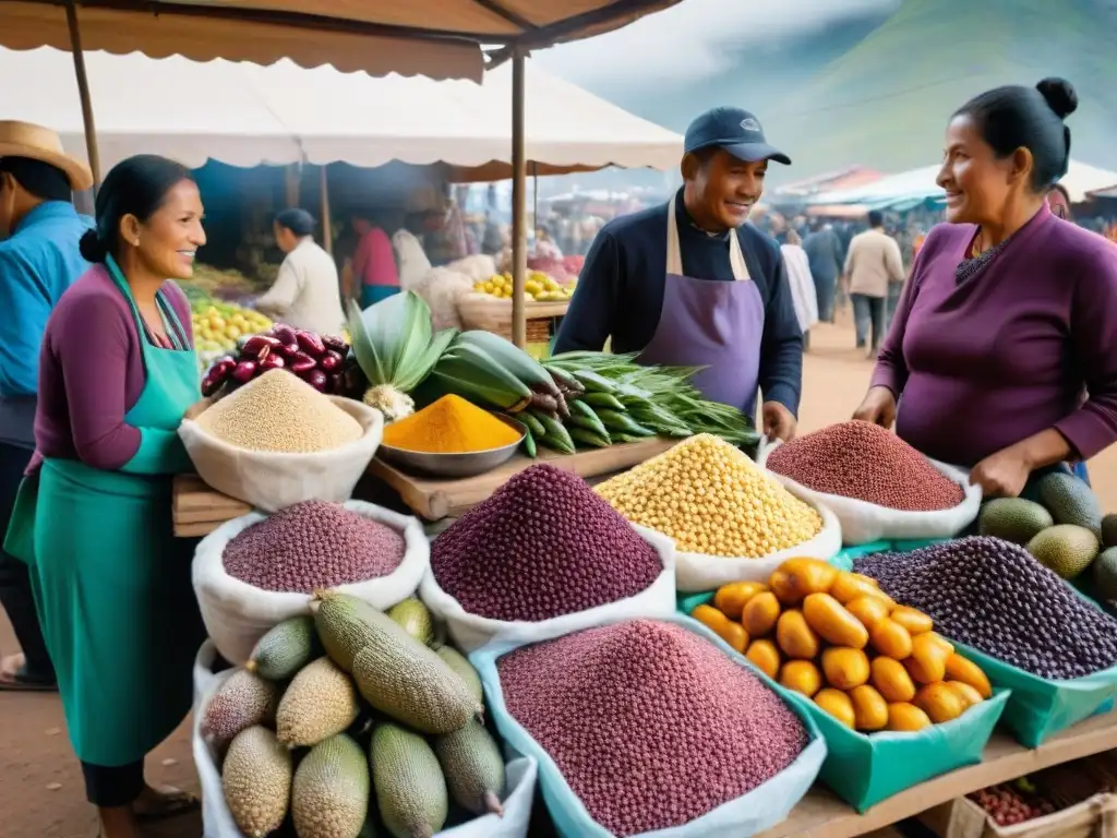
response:
<svg viewBox="0 0 1117 838"><path fill-rule="evenodd" d="M732 582L691 615L758 669L856 731L918 731L992 694L981 668L868 577L789 559L767 585Z"/></svg>

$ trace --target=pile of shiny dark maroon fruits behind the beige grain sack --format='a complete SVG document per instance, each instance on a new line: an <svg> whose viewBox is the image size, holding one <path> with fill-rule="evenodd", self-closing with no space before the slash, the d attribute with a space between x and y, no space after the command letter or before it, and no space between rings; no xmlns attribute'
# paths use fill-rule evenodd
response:
<svg viewBox="0 0 1117 838"><path fill-rule="evenodd" d="M279 323L267 334L238 341L235 353L214 361L202 377L202 396L228 393L270 370L286 370L319 392L341 396L347 390L349 351L342 337Z"/></svg>

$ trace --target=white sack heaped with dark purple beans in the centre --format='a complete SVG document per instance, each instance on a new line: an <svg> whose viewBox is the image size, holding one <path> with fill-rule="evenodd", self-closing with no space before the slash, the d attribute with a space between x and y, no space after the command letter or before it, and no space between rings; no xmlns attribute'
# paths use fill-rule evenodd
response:
<svg viewBox="0 0 1117 838"><path fill-rule="evenodd" d="M633 526L577 475L521 472L431 544L419 588L455 644L542 640L675 611L675 545Z"/></svg>

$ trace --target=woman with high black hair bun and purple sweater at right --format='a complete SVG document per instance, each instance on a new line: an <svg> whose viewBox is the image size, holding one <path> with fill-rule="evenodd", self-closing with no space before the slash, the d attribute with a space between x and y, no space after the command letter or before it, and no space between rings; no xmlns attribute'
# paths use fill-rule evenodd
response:
<svg viewBox="0 0 1117 838"><path fill-rule="evenodd" d="M986 495L1019 495L1033 473L1117 441L1117 247L1048 204L1077 106L1070 83L1047 78L954 114L938 174L947 223L919 250L855 413L895 420Z"/></svg>

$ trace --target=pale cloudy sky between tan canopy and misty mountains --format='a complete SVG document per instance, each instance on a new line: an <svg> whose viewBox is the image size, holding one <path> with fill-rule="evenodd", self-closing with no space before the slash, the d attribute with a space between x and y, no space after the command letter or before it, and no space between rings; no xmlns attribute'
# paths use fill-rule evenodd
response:
<svg viewBox="0 0 1117 838"><path fill-rule="evenodd" d="M615 32L536 53L535 59L590 88L700 82L725 72L742 47L800 37L899 4L900 0L682 0Z"/></svg>

